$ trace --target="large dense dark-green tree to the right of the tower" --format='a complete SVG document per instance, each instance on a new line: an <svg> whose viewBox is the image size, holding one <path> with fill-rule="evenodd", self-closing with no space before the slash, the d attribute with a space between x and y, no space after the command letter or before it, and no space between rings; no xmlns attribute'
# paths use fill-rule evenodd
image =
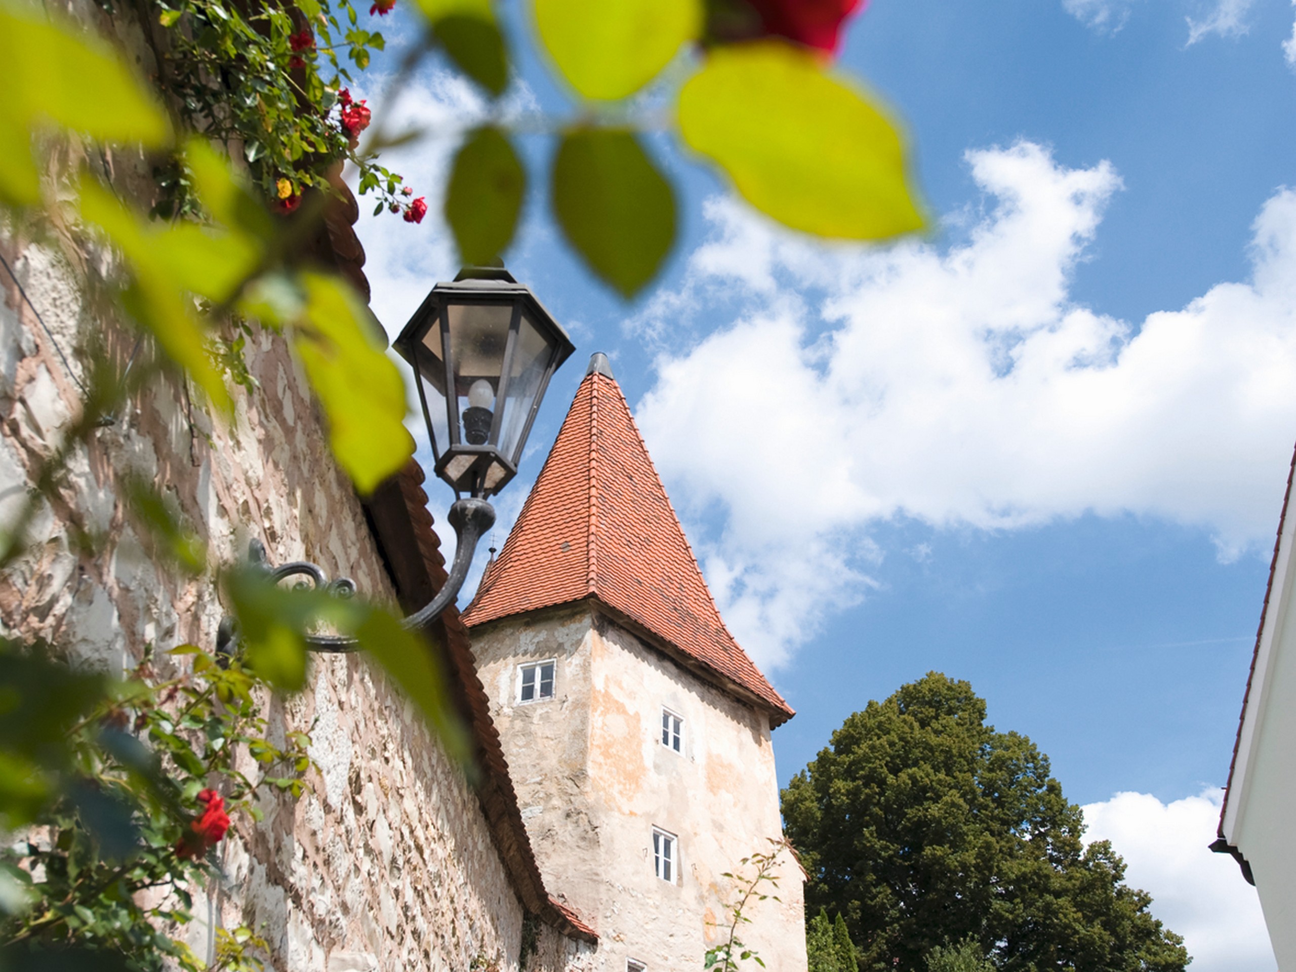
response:
<svg viewBox="0 0 1296 972"><path fill-rule="evenodd" d="M1085 846L1048 758L985 714L929 673L833 732L783 791L807 903L845 915L862 972L925 969L968 936L1010 972L1182 972L1183 940L1111 844Z"/></svg>

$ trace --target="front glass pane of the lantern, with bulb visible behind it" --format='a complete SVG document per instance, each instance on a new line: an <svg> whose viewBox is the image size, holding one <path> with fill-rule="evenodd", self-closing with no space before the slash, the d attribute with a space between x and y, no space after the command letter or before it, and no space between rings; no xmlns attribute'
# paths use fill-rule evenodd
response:
<svg viewBox="0 0 1296 972"><path fill-rule="evenodd" d="M452 301L454 298L451 298ZM508 325L513 318L512 303L447 303L450 318L450 356L455 367L455 398L463 428L459 441L472 445L486 442L504 368ZM474 388L476 386L476 388ZM472 400L469 400L472 393ZM469 413L470 408L486 410ZM474 420L476 416L476 420ZM477 434L474 434L474 430Z"/></svg>

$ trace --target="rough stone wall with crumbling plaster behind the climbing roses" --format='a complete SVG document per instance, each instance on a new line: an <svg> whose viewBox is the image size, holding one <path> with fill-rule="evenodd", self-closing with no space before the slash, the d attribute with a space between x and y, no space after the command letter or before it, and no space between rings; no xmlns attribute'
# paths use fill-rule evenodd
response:
<svg viewBox="0 0 1296 972"><path fill-rule="evenodd" d="M87 297L102 254L23 242L0 228L0 522L80 412L86 362L124 362L133 334ZM21 283L21 288L19 288ZM23 295L23 292L26 295ZM149 354L146 342L140 354ZM209 544L211 560L262 540L273 562L311 560L369 596L394 591L364 512L327 446L320 413L284 341L249 342L258 388L232 389L214 419L179 381L156 381L73 452L57 502L30 550L0 577L0 630L43 636L83 664L121 670L145 645L215 644L223 614L214 577L176 579L150 556L121 502L128 477L157 483ZM91 538L87 546L79 537ZM268 708L275 731L312 730L319 771L298 801L270 798L266 819L236 819L223 841L228 881L196 912L262 927L272 967L516 969L524 908L481 806L381 673L360 656L315 662L308 686ZM205 921L191 946L209 953ZM592 946L537 929L527 968L590 967ZM210 954L210 953L209 953Z"/></svg>

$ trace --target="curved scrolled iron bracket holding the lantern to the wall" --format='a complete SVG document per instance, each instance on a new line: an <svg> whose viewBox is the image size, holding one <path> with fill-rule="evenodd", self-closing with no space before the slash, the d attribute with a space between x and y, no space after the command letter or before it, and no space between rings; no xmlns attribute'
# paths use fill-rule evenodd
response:
<svg viewBox="0 0 1296 972"><path fill-rule="evenodd" d="M455 559L450 565L450 575L429 604L402 619L400 625L407 631L426 629L441 617L446 608L455 603L455 599L459 596L459 588L464 586L468 570L473 565L473 555L477 551L478 542L495 525L495 508L485 499L457 499L450 507L447 520L455 527L456 539ZM297 586L302 588L310 586L315 590L328 591L338 597L354 597L356 594L355 582L349 577L329 581L323 568L306 560L294 560L289 564L271 566L266 557L266 546L260 540L253 540L248 547L248 560L254 566L263 569L271 583L279 583L290 577L299 577L305 578L297 582ZM220 629L216 632L216 654L232 654L237 636L235 619L227 616L220 621ZM360 651L360 643L349 635L306 635L306 647L312 652L332 654Z"/></svg>

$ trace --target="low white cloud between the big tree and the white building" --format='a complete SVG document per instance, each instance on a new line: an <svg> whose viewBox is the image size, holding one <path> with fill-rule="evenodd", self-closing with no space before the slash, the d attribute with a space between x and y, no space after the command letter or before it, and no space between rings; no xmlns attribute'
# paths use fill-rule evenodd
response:
<svg viewBox="0 0 1296 972"><path fill-rule="evenodd" d="M1152 896L1152 914L1183 936L1192 972L1275 972L1278 963L1256 889L1227 854L1213 854L1223 791L1163 804L1117 793L1083 807L1085 840L1109 840L1126 884Z"/></svg>

